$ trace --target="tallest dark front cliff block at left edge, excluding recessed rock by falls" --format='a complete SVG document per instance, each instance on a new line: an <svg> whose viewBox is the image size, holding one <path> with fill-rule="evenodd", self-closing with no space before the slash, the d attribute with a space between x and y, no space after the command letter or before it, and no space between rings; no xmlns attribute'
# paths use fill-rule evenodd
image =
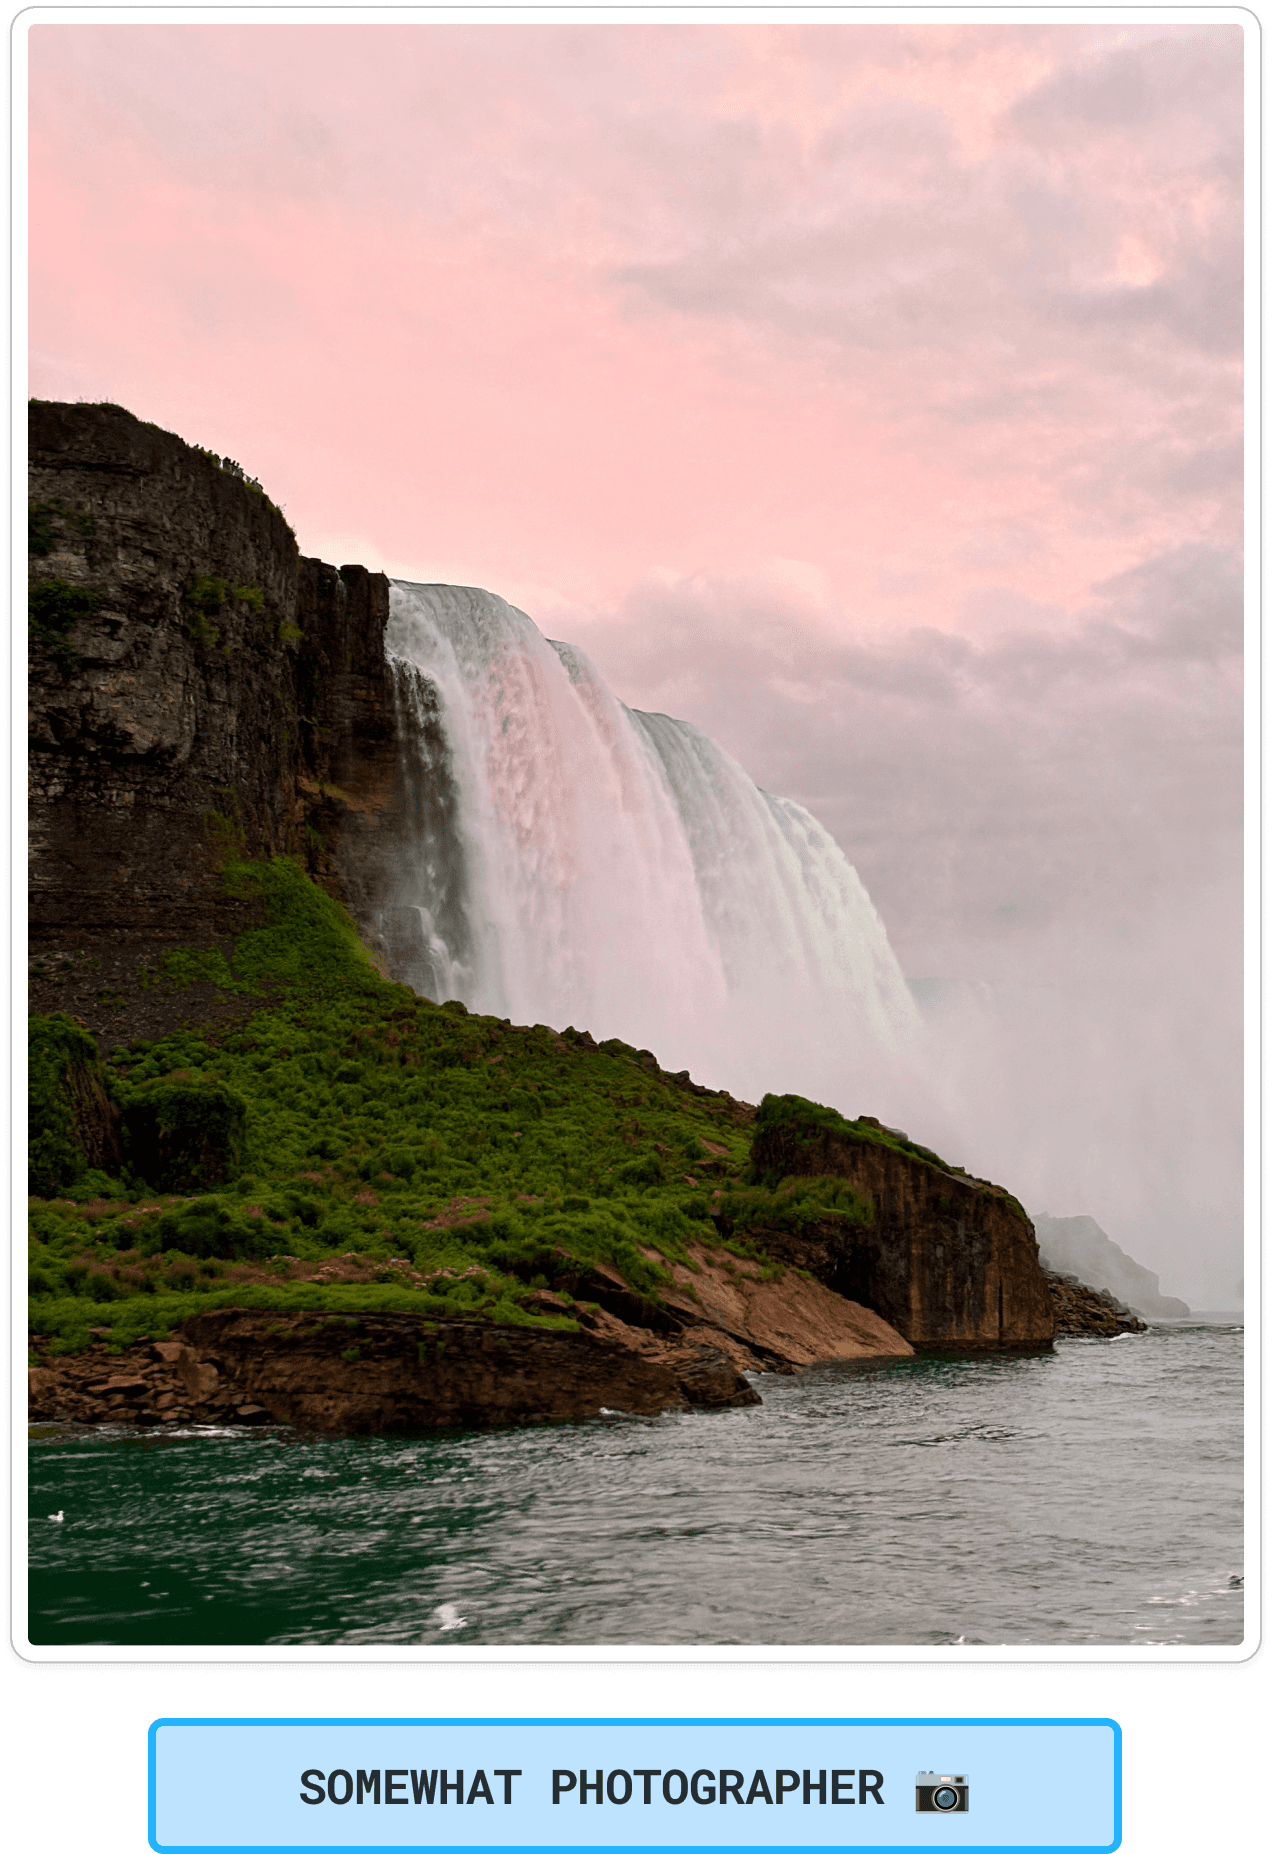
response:
<svg viewBox="0 0 1272 1854"><path fill-rule="evenodd" d="M32 925L202 927L217 836L282 849L299 554L115 406L30 408Z"/></svg>

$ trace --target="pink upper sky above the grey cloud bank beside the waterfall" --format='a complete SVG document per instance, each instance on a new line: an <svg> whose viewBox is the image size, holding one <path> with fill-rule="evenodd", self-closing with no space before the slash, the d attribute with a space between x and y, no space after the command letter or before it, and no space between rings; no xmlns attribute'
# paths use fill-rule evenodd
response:
<svg viewBox="0 0 1272 1854"><path fill-rule="evenodd" d="M300 543L857 623L1235 538L1231 26L35 26L32 391Z"/></svg>

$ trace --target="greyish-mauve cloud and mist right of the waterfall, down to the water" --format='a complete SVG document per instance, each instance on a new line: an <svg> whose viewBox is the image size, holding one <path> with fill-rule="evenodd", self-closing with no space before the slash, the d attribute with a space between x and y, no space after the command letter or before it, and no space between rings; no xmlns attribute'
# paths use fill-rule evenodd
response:
<svg viewBox="0 0 1272 1854"><path fill-rule="evenodd" d="M833 1105L903 1112L1027 1209L1094 1216L1166 1292L1239 1303L1231 552L1146 560L1074 616L1003 593L975 643L870 636L790 562L549 617L629 705L710 732L859 870L923 1029L886 1103Z"/></svg>

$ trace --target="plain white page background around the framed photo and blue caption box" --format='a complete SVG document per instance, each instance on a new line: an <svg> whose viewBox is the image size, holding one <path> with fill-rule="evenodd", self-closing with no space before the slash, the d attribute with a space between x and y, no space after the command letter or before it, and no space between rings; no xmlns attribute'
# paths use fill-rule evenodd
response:
<svg viewBox="0 0 1272 1854"><path fill-rule="evenodd" d="M0 7L6 24L24 11L4 0ZM1248 11L1266 41L1268 0ZM7 755L0 764L7 766ZM7 1580L6 1528L6 1591ZM1253 1848L1272 1822L1266 1654L1222 1669L113 1670L24 1667L7 1648L6 1630L6 1839L24 1854L145 1854L146 1730L159 1717L658 1713L1111 1717L1124 1735L1127 1854Z"/></svg>

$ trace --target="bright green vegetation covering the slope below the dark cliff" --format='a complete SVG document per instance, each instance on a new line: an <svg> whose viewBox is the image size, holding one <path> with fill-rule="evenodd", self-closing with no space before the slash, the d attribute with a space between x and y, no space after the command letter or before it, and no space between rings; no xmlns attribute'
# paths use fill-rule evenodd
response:
<svg viewBox="0 0 1272 1854"><path fill-rule="evenodd" d="M710 1231L712 1190L747 1162L723 1098L623 1042L588 1048L391 984L287 858L230 862L224 883L261 925L230 955L169 955L169 983L219 984L256 1012L111 1053L113 1175L67 1159L74 1133L45 1112L30 1281L45 1344L80 1350L109 1327L122 1346L219 1305L532 1322L525 1296L564 1257L658 1298ZM39 1022L45 1077L95 1059L83 1033ZM771 1196L788 1214L803 1201ZM362 1279L289 1279L323 1264Z"/></svg>

